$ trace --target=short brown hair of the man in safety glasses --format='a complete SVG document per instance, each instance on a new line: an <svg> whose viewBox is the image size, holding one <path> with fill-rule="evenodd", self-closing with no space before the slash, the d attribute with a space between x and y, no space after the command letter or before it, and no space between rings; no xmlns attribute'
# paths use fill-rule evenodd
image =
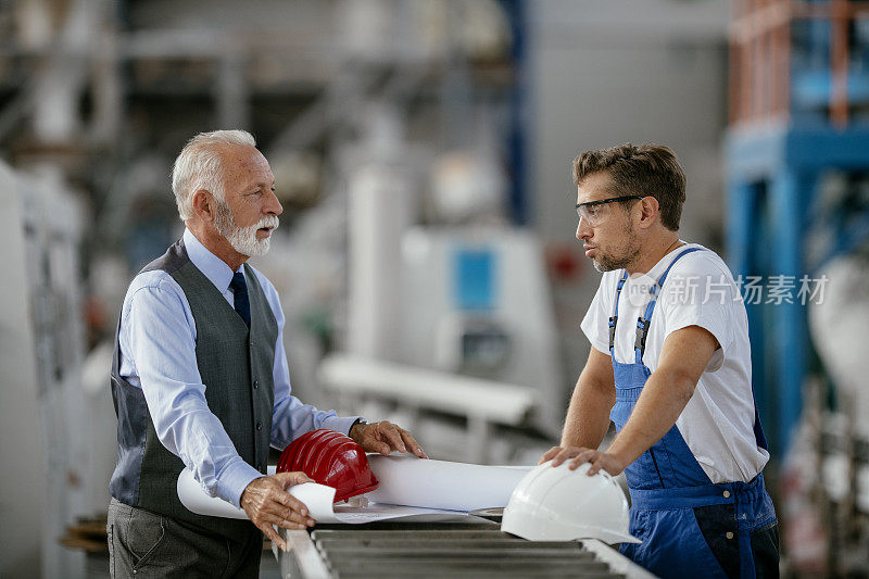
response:
<svg viewBox="0 0 869 579"><path fill-rule="evenodd" d="M631 143L585 151L574 160L574 182L578 186L587 175L605 171L620 196L645 194L657 199L660 223L679 230L682 204L685 202L685 174L676 153L662 144Z"/></svg>

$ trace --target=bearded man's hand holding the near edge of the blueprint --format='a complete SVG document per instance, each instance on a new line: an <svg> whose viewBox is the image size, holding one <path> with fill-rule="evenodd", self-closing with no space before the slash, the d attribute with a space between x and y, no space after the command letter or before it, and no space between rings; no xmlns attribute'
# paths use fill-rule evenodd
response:
<svg viewBox="0 0 869 579"><path fill-rule="evenodd" d="M251 481L241 493L241 508L248 518L262 530L281 551L287 543L275 531L273 525L285 529L313 527L315 521L307 516L307 507L287 492L287 487L314 482L304 473L278 473Z"/></svg>

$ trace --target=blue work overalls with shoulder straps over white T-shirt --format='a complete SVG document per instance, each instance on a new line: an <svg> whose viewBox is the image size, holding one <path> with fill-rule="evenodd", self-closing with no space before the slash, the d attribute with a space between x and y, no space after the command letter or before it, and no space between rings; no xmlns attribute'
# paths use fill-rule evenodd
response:
<svg viewBox="0 0 869 579"><path fill-rule="evenodd" d="M650 290L645 315L637 322L633 364L616 361L618 299L627 272L618 282L609 318L609 355L616 381L616 404L609 417L616 431L625 427L652 375L643 364L643 352L658 293L673 264L693 251L700 248L678 254ZM754 432L758 446L766 449L756 408ZM763 474L751 482L713 484L676 425L625 474L631 495L630 531L643 542L622 544L622 554L662 577L755 577L751 532L776 521ZM733 541L739 541L738 549Z"/></svg>

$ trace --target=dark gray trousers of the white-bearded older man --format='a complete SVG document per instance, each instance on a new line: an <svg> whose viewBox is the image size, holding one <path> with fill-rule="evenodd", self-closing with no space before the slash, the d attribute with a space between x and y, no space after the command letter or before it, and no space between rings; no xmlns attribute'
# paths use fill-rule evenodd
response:
<svg viewBox="0 0 869 579"><path fill-rule="evenodd" d="M106 531L112 577L260 576L263 534L255 527L236 541L112 499Z"/></svg>

